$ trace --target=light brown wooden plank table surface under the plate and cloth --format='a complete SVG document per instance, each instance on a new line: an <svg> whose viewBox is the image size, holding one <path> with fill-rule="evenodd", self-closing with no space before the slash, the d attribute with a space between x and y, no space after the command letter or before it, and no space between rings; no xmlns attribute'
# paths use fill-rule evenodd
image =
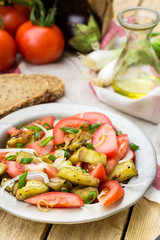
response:
<svg viewBox="0 0 160 240"><path fill-rule="evenodd" d="M140 4L160 11L160 0L115 0L114 16ZM104 220L76 225L36 223L0 210L0 240L155 240L159 235L160 205L145 198Z"/></svg>

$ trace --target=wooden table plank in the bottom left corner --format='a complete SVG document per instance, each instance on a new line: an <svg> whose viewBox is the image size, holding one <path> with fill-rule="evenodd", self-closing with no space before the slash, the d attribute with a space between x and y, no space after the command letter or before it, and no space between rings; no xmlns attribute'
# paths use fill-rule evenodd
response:
<svg viewBox="0 0 160 240"><path fill-rule="evenodd" d="M31 222L6 214L0 224L1 240L41 240L49 224Z"/></svg>

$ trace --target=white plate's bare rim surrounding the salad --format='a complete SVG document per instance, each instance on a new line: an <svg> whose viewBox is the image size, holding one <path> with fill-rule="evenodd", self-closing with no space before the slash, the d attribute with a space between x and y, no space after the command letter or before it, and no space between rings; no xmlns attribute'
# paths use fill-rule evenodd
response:
<svg viewBox="0 0 160 240"><path fill-rule="evenodd" d="M105 111L104 109L85 105L49 103L33 107L28 107L9 114L0 120L0 147L4 147L6 142L6 130L10 126L18 126L21 123L39 119L42 116L54 115L56 119L69 117L81 112L101 112L106 114L112 121L116 130L127 133L130 142L140 146L136 151L136 168L138 177L132 178L128 184L144 183L139 187L125 187L124 197L110 206L104 207L99 203L85 205L75 209L50 209L49 212L41 212L36 206L17 201L5 191L4 196L0 197L0 208L25 219L37 222L74 224L91 222L111 216L135 204L147 191L156 174L156 155L150 140L132 122L117 115Z"/></svg>

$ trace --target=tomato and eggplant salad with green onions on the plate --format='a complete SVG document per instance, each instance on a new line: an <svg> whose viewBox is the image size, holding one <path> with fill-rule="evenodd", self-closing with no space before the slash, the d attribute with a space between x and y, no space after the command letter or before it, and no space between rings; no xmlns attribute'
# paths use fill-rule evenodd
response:
<svg viewBox="0 0 160 240"><path fill-rule="evenodd" d="M46 116L7 130L0 152L1 195L49 208L78 208L123 197L123 185L137 176L139 147L99 112L55 119ZM123 183L123 184L121 184Z"/></svg>

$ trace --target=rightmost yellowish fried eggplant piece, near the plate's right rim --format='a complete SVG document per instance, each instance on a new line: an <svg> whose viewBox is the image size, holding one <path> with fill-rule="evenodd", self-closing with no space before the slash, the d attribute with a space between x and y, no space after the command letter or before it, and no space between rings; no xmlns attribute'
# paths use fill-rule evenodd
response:
<svg viewBox="0 0 160 240"><path fill-rule="evenodd" d="M138 172L135 168L134 162L132 160L128 160L123 163L118 163L114 170L107 176L107 180L124 182L137 175Z"/></svg>

